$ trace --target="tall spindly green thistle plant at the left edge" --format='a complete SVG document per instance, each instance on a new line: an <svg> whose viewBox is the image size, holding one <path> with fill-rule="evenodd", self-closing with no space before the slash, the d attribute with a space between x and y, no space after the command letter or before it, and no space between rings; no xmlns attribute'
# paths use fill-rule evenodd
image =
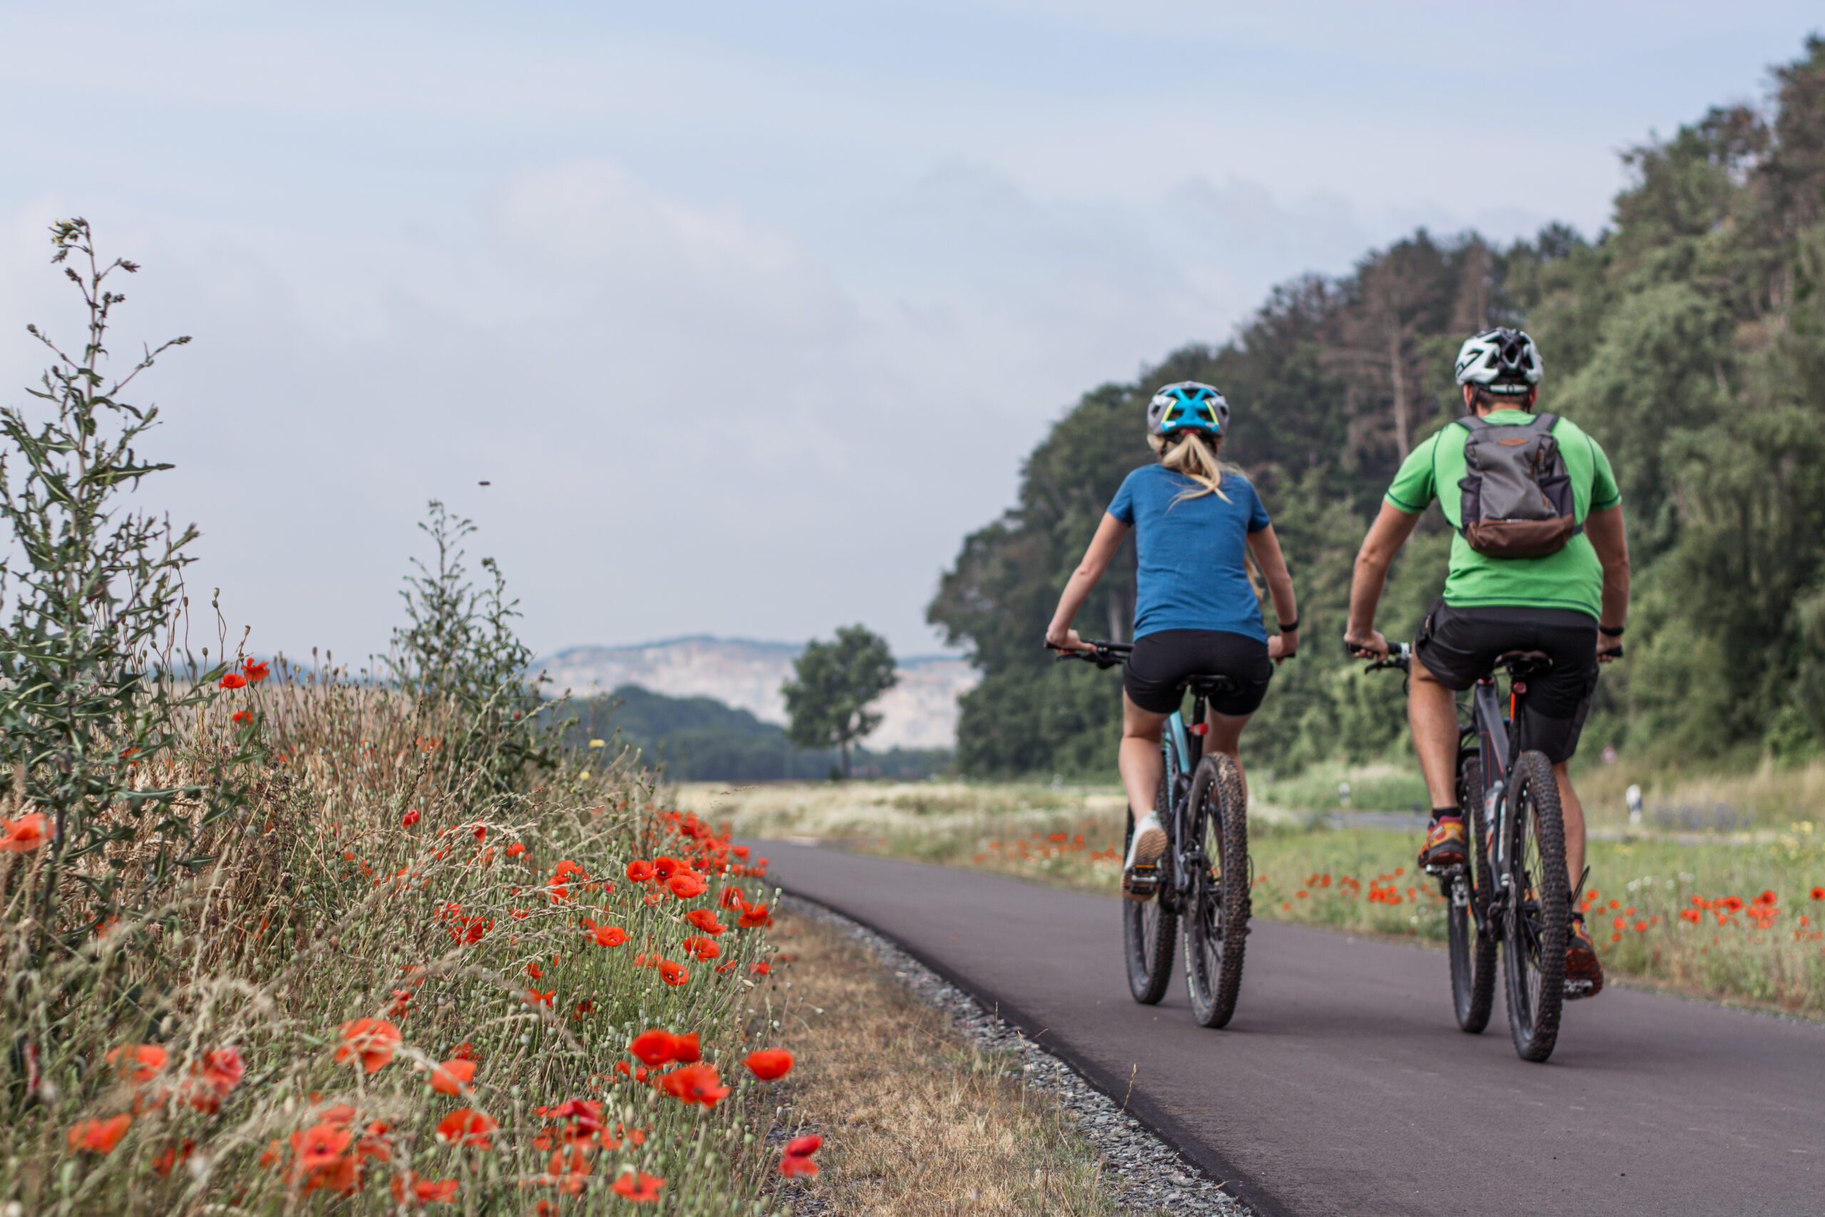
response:
<svg viewBox="0 0 1825 1217"><path fill-rule="evenodd" d="M51 248L88 323L77 352L29 325L51 365L27 387L36 405L0 409L0 520L11 536L0 566L0 765L11 774L13 814L49 837L40 850L42 927L82 932L133 900L122 881L144 894L206 861L197 832L235 806L235 786L223 781L235 755L188 765L182 781L168 759L181 717L208 704L221 675L199 671L177 646L197 529L124 504L172 465L141 456L159 412L122 392L190 339L144 347L110 380L108 332L126 299L117 276L139 266L99 257L84 219L53 224ZM157 847L131 859L110 854L146 817L155 817ZM71 883L77 900L58 909Z"/></svg>

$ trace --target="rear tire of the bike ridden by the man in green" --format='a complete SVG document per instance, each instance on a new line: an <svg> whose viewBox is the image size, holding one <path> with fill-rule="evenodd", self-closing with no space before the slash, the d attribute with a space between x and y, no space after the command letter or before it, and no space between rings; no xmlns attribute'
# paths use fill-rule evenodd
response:
<svg viewBox="0 0 1825 1217"><path fill-rule="evenodd" d="M1544 754L1520 754L1507 808L1509 892L1502 927L1507 1029L1520 1058L1540 1062L1559 1042L1571 932L1566 823L1559 783ZM1529 841L1537 847L1531 858Z"/></svg>

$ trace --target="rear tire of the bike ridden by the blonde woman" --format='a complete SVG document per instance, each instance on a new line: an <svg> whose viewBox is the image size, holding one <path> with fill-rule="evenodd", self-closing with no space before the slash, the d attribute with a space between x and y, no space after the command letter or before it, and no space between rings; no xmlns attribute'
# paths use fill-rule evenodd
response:
<svg viewBox="0 0 1825 1217"><path fill-rule="evenodd" d="M1184 920L1184 991L1192 1018L1223 1027L1236 1014L1248 947L1248 797L1243 775L1225 754L1192 772L1192 832L1203 841L1206 867L1192 883Z"/></svg>

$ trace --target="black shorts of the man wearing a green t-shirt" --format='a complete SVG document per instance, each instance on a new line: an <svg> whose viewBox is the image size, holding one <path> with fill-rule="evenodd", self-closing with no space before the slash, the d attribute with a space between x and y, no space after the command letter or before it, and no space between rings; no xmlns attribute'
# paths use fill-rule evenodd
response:
<svg viewBox="0 0 1825 1217"><path fill-rule="evenodd" d="M1413 653L1449 690L1487 675L1502 651L1544 651L1553 666L1528 679L1520 699L1522 743L1553 765L1570 761L1597 692L1597 619L1573 609L1433 606Z"/></svg>

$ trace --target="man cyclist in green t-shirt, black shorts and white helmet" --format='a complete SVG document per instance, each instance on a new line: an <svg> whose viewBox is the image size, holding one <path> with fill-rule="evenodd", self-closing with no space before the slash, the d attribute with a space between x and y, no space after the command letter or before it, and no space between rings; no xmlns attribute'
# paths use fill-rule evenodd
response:
<svg viewBox="0 0 1825 1217"><path fill-rule="evenodd" d="M1343 637L1361 657L1387 655L1387 639L1374 628L1376 604L1389 564L1436 498L1455 529L1451 569L1444 597L1427 613L1414 642L1420 662L1413 664L1407 699L1413 746L1433 799L1420 865L1464 865L1467 856L1456 794L1456 693L1471 688L1504 651L1544 651L1553 666L1528 681L1517 713L1528 746L1553 763L1566 821L1566 867L1571 890L1577 890L1584 874L1584 806L1566 765L1577 752L1590 713L1597 666L1622 655L1628 540L1622 496L1602 447L1570 420L1549 425L1544 418L1535 420L1540 370L1533 339L1520 330L1496 328L1465 339L1458 350L1456 380L1464 387L1469 418L1414 447L1394 474L1382 513L1356 555ZM1476 509L1480 485L1469 476L1465 447L1473 434L1478 445L1486 442L1482 436L1498 445L1522 445L1533 442L1528 434L1548 429L1570 480L1564 507L1571 515L1570 536L1542 556L1493 556L1487 549L1500 546L1484 540L1484 533L1465 531L1464 513ZM1473 546L1471 536L1480 544ZM1566 978L1588 982L1573 987L1577 996L1595 996L1602 989L1597 949L1575 909Z"/></svg>

